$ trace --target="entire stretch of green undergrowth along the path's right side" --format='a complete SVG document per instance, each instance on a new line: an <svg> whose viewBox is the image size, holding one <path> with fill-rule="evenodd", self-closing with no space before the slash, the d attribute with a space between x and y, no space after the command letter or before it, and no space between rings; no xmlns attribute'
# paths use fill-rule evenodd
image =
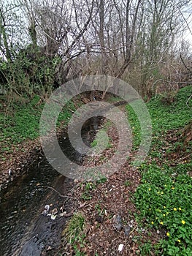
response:
<svg viewBox="0 0 192 256"><path fill-rule="evenodd" d="M178 147L183 154L190 155L191 144L185 147L182 140L169 143L164 138L170 131L183 129L191 120L192 103L186 104L191 94L192 87L188 86L178 92L172 105L163 105L160 98L147 103L153 123L153 141L148 159L140 167L142 181L135 193L135 205L140 225L147 227L149 232L154 228L161 231L163 238L153 248L155 255L192 255L192 183L189 176L192 161L166 159L169 153L177 153ZM128 113L131 127L136 131L134 145L137 146L139 122L134 113L130 110ZM166 147L169 150L163 157L161 149L166 151ZM169 164L170 160L174 165ZM149 248L151 250L151 246ZM150 251L146 255L150 255Z"/></svg>

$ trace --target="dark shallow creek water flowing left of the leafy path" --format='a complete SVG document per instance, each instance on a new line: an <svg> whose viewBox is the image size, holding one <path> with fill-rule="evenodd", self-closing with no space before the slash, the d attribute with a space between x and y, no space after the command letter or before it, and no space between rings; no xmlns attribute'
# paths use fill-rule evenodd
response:
<svg viewBox="0 0 192 256"><path fill-rule="evenodd" d="M91 118L84 125L82 136L85 143L90 144L90 131L93 138L99 121L101 118ZM80 165L83 156L74 151L66 135L61 137L64 153ZM23 176L1 191L0 255L38 256L45 246L59 246L66 219L55 221L41 213L46 204L63 199L47 187L54 187L64 195L72 188L72 180L61 176L44 157L40 157Z"/></svg>

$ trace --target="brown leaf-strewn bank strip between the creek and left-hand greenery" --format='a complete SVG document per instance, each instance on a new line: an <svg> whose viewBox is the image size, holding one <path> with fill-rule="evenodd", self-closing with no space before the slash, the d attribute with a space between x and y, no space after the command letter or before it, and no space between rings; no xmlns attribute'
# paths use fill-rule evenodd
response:
<svg viewBox="0 0 192 256"><path fill-rule="evenodd" d="M109 97L106 95L106 97ZM101 100L101 95L96 94L97 100ZM91 102L91 99L84 97L81 99L82 104ZM114 106L125 105L125 101L113 102ZM77 102L74 102L75 108L78 108ZM64 127L65 121L61 122ZM58 128L58 137L64 133L64 128ZM18 135L19 136L19 135ZM41 162L44 156L39 138L34 140L25 140L19 144L12 144L11 151L1 153L0 158L0 191L5 189L15 178L22 176L28 171L28 168L34 162Z"/></svg>

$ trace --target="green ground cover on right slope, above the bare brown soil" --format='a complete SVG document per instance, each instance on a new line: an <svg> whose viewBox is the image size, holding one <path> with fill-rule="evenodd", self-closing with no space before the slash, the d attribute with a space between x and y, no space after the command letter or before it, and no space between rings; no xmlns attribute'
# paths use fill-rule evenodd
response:
<svg viewBox="0 0 192 256"><path fill-rule="evenodd" d="M171 105L164 105L161 102L161 97L154 97L146 104L153 124L152 145L158 146L158 148L164 146L161 135L171 129L183 128L188 124L191 120L192 99L188 102L188 105L186 102L191 94L192 86L186 86L178 91ZM141 143L139 119L131 105L126 105L126 111L128 113L128 123L133 134L133 150L136 150Z"/></svg>

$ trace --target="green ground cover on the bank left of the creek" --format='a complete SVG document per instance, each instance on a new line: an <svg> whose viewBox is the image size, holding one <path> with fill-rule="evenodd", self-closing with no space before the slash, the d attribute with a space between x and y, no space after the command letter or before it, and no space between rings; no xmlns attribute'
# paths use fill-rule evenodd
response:
<svg viewBox="0 0 192 256"><path fill-rule="evenodd" d="M7 115L0 113L0 142L1 153L11 152L12 145L24 140L34 140L39 137L39 121L44 103L37 104L40 97L35 96L28 104L15 104L12 112ZM69 121L74 110L73 102L68 102L66 108L58 116L58 126L62 121Z"/></svg>

